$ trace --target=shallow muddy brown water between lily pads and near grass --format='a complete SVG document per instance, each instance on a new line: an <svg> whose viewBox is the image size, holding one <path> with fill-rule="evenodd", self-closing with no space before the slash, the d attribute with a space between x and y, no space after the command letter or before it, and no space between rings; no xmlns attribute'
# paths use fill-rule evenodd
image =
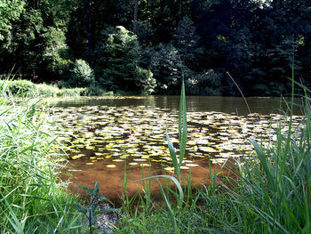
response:
<svg viewBox="0 0 311 234"><path fill-rule="evenodd" d="M71 171L71 169L69 169L67 171L67 173L71 174L72 182L69 184L69 189L74 193L79 193L84 198L87 198L84 191L77 188L76 184L92 188L95 182L99 182L101 194L111 200L116 206L120 206L121 198L124 194L124 165L120 164L120 166L117 167L119 169L106 168L105 165L107 165L107 163L85 166L84 160L75 160L69 162L68 166L76 170ZM181 184L186 186L188 178L191 178L191 184L195 185L196 187L201 187L203 185L208 186L211 183L209 168L210 167L208 162L204 160L200 166L195 167L195 169L192 169L191 172L190 170L183 171L181 173ZM216 170L218 172L221 171L221 175L223 176L236 177L236 174L233 172L232 168L230 168L230 170L226 168L216 168ZM215 173L215 165L211 165L211 173ZM150 170L149 168L141 166L128 167L126 169L127 195L132 198L132 196L134 196L137 192L140 192L142 197L144 197L147 195L147 190L150 190L151 198L154 201L162 201L163 198L160 194L158 182L156 179L146 179L144 182L139 181L142 178L148 178L149 175L152 176L159 174L163 174L163 171L153 167L151 167ZM165 174L172 175L172 173ZM62 176L64 176L64 173ZM66 178L66 176L63 178ZM171 189L176 188L174 183L169 179L166 179L166 182L164 182L163 178L159 178L159 180L163 187L165 184L169 184ZM217 183L219 183L219 180Z"/></svg>

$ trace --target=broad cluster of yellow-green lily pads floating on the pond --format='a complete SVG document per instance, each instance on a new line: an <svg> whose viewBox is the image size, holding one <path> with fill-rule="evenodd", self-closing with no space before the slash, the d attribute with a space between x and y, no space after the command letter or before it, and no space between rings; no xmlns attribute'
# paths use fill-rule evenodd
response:
<svg viewBox="0 0 311 234"><path fill-rule="evenodd" d="M145 106L55 107L52 118L56 123L52 131L60 135L59 141L72 160L84 160L85 165L105 162L103 165L110 168L126 163L173 171L165 129L178 148L176 110ZM285 120L275 114L189 112L187 150L181 169L207 160L224 164L228 158L251 157L253 149L248 139L271 144L280 121ZM295 116L293 125L300 125L301 120ZM286 127L282 131L287 131Z"/></svg>

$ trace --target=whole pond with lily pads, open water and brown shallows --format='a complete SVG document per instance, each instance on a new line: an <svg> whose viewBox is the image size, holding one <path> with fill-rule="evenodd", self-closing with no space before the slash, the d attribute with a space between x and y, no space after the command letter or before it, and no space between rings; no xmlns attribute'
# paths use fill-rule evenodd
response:
<svg viewBox="0 0 311 234"><path fill-rule="evenodd" d="M192 184L208 185L210 170L234 176L233 166L254 155L249 138L265 146L275 141L280 120L286 120L277 114L280 101L247 101L253 114L248 114L242 98L187 97L183 182L191 173ZM124 172L130 196L146 185L136 180L173 173L165 129L178 154L178 96L70 98L53 103L52 131L60 134L58 141L70 158L73 184L92 187L99 182L101 193L116 199L124 190ZM302 117L295 111L294 125L299 127ZM284 125L282 131L286 130ZM157 182L150 187L157 190Z"/></svg>

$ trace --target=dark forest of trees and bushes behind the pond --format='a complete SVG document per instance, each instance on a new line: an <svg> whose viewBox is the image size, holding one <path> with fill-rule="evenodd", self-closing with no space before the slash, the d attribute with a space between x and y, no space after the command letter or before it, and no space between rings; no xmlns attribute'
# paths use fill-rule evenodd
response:
<svg viewBox="0 0 311 234"><path fill-rule="evenodd" d="M310 0L0 0L0 73L92 94L311 85Z"/></svg>

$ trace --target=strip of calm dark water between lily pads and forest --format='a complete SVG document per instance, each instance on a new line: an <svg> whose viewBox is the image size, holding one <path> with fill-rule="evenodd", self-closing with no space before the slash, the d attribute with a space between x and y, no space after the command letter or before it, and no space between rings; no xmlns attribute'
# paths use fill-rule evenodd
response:
<svg viewBox="0 0 311 234"><path fill-rule="evenodd" d="M259 114L279 113L279 98L247 98L251 112ZM59 107L81 107L81 106L145 106L149 108L178 109L179 96L132 96L113 98L70 98L56 102ZM283 109L287 109L286 104L282 104ZM249 111L243 98L238 97L210 97L210 96L187 96L187 111L203 112L218 111L227 114L247 115ZM299 109L295 109L296 114Z"/></svg>

